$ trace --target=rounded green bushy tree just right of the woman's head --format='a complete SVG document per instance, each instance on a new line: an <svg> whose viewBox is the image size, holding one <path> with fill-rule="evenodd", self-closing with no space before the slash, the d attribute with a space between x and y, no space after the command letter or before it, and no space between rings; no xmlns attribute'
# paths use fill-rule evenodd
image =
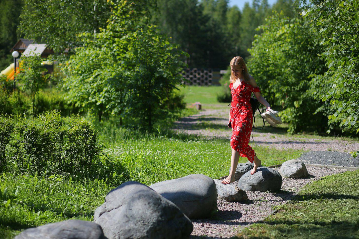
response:
<svg viewBox="0 0 359 239"><path fill-rule="evenodd" d="M310 22L283 14L268 17L258 29L263 33L256 35L252 43L248 68L262 95L281 111L290 133L325 131L323 121L328 106L323 107L317 91L327 85L312 80L327 70L325 62L317 57L323 51L321 35ZM323 109L317 110L319 107Z"/></svg>

